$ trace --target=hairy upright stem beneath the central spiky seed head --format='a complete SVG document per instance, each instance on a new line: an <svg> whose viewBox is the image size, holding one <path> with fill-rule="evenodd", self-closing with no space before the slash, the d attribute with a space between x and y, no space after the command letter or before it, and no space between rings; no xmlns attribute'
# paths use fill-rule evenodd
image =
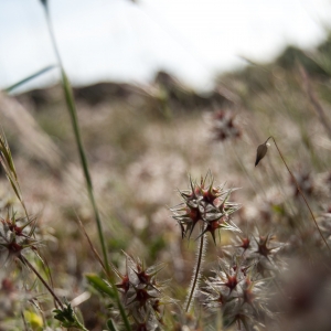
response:
<svg viewBox="0 0 331 331"><path fill-rule="evenodd" d="M203 256L204 256L204 252L205 252L205 244L206 244L206 235L203 234L203 227L201 228L201 237L200 237L200 242L199 242L199 246L197 246L197 255L196 255L196 260L195 260L195 267L193 270L193 276L192 276L192 280L190 284L190 288L189 288L189 292L188 292L188 297L186 297L186 301L185 301L185 312L189 312L190 307L192 305L192 300L195 297L195 292L196 292L196 287L201 277L201 265L202 265L202 260L203 260Z"/></svg>

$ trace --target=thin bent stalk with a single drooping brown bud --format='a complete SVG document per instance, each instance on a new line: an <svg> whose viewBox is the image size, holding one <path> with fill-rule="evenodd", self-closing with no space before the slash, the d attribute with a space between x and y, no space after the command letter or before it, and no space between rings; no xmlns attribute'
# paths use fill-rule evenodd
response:
<svg viewBox="0 0 331 331"><path fill-rule="evenodd" d="M324 238L324 236L323 236L323 234L322 234L322 232L321 232L321 229L320 229L320 227L319 227L319 225L318 225L318 223L317 223L317 221L316 221L316 217L313 216L313 213L312 213L312 211L311 211L311 209L310 209L310 206L309 206L309 204L308 204L308 201L307 201L307 199L306 199L306 196L305 196L305 194L303 194L303 192L302 192L302 190L301 190L301 188L300 188L300 185L299 185L299 183L298 183L296 177L293 175L293 173L290 171L289 167L287 166L287 163L286 163L286 161L285 161L285 159L284 159L284 157L282 157L282 153L281 153L280 149L278 148L278 145L277 145L277 142L276 142L276 140L275 140L275 138L274 138L273 136L270 136L270 137L266 140L266 142L264 142L264 143L261 143L260 146L258 146L258 148L257 148L257 153L256 153L255 167L256 167L256 166L259 163L259 161L266 156L266 153L267 153L267 151L268 151L268 145L267 145L267 143L268 143L269 139L273 139L273 140L274 140L275 146L276 146L276 148L277 148L277 151L278 151L278 153L279 153L279 156L280 156L280 158L281 158L281 160L282 160L282 162L284 162L286 169L287 169L287 171L289 172L289 174L290 174L290 177L291 177L293 183L296 184L296 186L297 186L297 189L298 189L300 195L302 196L302 199L303 199L303 201L305 201L305 204L307 205L307 207L308 207L308 210L309 210L309 213L310 213L310 215L311 215L311 217L312 217L312 221L314 222L314 225L316 225L316 227L318 228L318 231L319 231L319 233L320 233L321 238L323 239L323 242L324 242L325 246L328 247L328 249L331 252L330 246L328 245L327 239Z"/></svg>

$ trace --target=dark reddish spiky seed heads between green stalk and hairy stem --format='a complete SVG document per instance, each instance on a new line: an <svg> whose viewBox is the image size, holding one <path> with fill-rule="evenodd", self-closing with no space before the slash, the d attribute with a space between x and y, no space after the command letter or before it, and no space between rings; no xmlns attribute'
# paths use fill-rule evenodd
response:
<svg viewBox="0 0 331 331"><path fill-rule="evenodd" d="M120 278L116 287L134 320L134 330L156 330L163 323L164 306L172 300L163 295L166 282L157 279L162 268L163 265L146 267L139 258L126 254L126 273L122 275L114 269Z"/></svg>

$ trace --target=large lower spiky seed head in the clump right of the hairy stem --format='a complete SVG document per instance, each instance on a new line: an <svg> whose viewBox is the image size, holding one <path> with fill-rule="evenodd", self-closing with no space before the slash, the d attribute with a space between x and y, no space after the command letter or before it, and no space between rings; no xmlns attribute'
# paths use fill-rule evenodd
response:
<svg viewBox="0 0 331 331"><path fill-rule="evenodd" d="M202 303L211 313L221 313L224 325L237 323L250 330L267 311L267 280L260 279L255 266L244 258L223 258L214 276L205 280Z"/></svg>

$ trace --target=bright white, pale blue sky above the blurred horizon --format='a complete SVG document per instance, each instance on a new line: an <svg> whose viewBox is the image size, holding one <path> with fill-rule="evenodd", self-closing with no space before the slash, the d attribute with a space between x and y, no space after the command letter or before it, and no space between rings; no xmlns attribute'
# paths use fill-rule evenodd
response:
<svg viewBox="0 0 331 331"><path fill-rule="evenodd" d="M196 89L217 73L267 62L286 45L318 45L331 0L49 0L61 57L75 85L149 84L166 70ZM56 64L39 0L0 0L0 88ZM23 89L55 84L58 70Z"/></svg>

